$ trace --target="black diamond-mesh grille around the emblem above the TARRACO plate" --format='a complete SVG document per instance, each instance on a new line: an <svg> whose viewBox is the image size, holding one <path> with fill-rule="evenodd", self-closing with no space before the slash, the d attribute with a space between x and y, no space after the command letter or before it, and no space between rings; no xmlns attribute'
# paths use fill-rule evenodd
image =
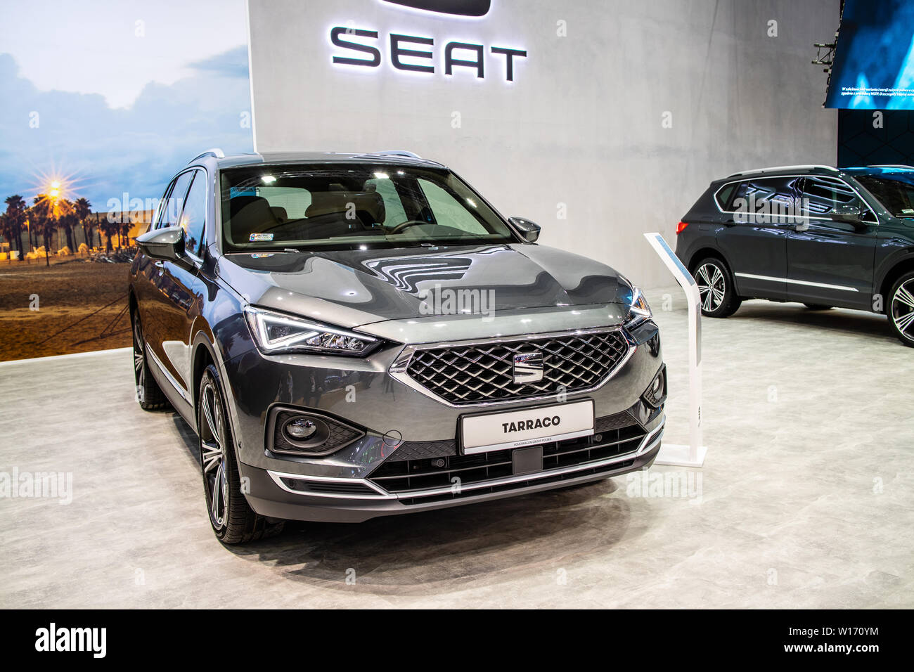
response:
<svg viewBox="0 0 914 672"><path fill-rule="evenodd" d="M407 374L452 404L521 400L595 387L628 352L618 331L416 350ZM543 379L514 381L514 356L543 353Z"/></svg>

